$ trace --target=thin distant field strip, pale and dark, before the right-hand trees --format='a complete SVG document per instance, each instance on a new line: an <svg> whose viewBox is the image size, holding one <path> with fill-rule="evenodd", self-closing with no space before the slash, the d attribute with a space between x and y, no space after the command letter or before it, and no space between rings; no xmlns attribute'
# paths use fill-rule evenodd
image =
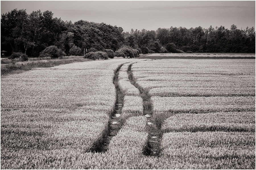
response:
<svg viewBox="0 0 256 170"><path fill-rule="evenodd" d="M251 53L155 53L140 56L148 59L255 59Z"/></svg>

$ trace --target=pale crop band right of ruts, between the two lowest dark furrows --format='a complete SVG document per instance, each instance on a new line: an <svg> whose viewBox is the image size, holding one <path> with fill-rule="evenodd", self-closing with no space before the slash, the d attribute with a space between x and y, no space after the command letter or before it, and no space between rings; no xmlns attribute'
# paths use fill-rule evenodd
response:
<svg viewBox="0 0 256 170"><path fill-rule="evenodd" d="M167 116L167 114L165 114ZM205 114L169 114L162 133L197 131L255 132L255 112L217 112ZM156 119L164 118L155 114Z"/></svg>

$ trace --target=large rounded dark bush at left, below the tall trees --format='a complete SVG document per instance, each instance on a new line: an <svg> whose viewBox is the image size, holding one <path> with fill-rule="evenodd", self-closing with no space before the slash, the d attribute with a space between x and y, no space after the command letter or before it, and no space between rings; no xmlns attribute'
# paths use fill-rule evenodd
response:
<svg viewBox="0 0 256 170"><path fill-rule="evenodd" d="M58 49L57 46L51 45L49 47L46 47L46 49L44 49L43 51L41 51L39 57L59 58L65 55L66 54L63 51L61 51L61 49Z"/></svg>

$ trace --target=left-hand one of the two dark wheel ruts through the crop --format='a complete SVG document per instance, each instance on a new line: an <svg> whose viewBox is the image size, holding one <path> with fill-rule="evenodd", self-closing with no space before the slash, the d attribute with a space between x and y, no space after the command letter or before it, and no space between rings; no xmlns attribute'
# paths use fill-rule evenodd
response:
<svg viewBox="0 0 256 170"><path fill-rule="evenodd" d="M102 138L94 142L93 146L90 148L90 152L106 152L108 150L110 140L118 133L123 125L123 119L121 119L121 112L123 108L124 95L118 86L118 74L122 66L123 64L117 68L113 78L113 84L115 85L116 101L115 108L110 114L108 127L105 129Z"/></svg>

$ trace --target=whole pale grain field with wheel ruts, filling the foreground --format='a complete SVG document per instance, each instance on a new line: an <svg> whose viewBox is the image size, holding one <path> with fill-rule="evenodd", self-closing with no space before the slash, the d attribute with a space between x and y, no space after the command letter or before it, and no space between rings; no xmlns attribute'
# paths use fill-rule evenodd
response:
<svg viewBox="0 0 256 170"><path fill-rule="evenodd" d="M255 59L3 75L1 169L255 169Z"/></svg>

